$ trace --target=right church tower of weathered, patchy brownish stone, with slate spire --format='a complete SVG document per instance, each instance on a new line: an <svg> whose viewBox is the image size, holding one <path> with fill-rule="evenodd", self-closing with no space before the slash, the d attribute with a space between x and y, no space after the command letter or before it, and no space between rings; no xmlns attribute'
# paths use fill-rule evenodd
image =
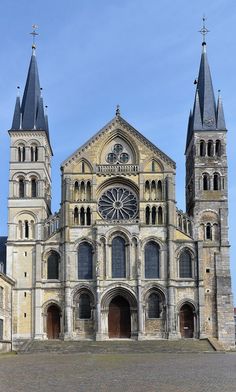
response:
<svg viewBox="0 0 236 392"><path fill-rule="evenodd" d="M204 21L205 22L205 21ZM228 241L228 169L226 125L219 93L217 104L207 59L205 24L193 111L186 143L186 209L194 220L203 283L199 312L203 334L233 344L234 324ZM202 307L201 307L202 305Z"/></svg>

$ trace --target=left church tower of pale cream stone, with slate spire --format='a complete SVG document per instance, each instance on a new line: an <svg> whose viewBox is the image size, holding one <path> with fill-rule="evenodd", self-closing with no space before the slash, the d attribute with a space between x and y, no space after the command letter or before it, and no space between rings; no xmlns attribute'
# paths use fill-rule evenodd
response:
<svg viewBox="0 0 236 392"><path fill-rule="evenodd" d="M36 260L51 204L52 149L35 52L33 45L23 98L21 100L18 96L16 99L9 130L7 273L16 280L13 292L14 339L34 334L32 309L37 291Z"/></svg>

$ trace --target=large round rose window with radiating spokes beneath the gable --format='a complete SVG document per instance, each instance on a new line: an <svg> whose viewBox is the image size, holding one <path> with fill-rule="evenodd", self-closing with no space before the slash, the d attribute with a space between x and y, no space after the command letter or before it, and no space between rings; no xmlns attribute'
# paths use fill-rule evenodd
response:
<svg viewBox="0 0 236 392"><path fill-rule="evenodd" d="M100 197L98 210L104 219L132 219L137 215L137 197L127 188L110 188Z"/></svg>

